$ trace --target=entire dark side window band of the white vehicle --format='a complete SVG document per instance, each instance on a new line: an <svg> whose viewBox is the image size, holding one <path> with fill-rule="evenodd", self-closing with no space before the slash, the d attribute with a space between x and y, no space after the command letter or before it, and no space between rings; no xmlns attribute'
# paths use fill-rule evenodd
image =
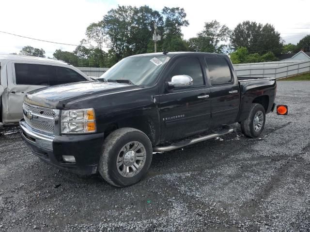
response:
<svg viewBox="0 0 310 232"><path fill-rule="evenodd" d="M82 75L65 67L26 63L14 65L16 85L53 86L86 81Z"/></svg>

